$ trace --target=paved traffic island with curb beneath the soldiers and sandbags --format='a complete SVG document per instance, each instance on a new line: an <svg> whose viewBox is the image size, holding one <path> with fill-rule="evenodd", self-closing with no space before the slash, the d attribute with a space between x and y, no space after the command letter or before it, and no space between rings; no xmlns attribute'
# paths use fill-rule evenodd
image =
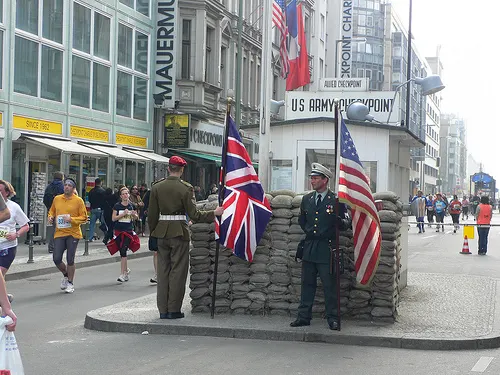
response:
<svg viewBox="0 0 500 375"><path fill-rule="evenodd" d="M87 313L85 327L105 332L305 341L405 349L459 350L500 347L498 280L482 276L409 273L395 324L343 320L331 331L326 321L291 328L283 316L192 314L186 293L184 319L160 320L156 294ZM187 288L186 288L187 289ZM187 290L189 292L189 290Z"/></svg>

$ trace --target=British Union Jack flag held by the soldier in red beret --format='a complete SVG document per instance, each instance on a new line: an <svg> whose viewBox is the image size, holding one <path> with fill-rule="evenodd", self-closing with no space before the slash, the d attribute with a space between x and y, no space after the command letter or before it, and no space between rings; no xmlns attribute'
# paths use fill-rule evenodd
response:
<svg viewBox="0 0 500 375"><path fill-rule="evenodd" d="M220 244L232 249L236 256L251 262L271 218L271 208L234 120L229 115L226 131L227 146L222 150L225 165L221 169L225 172L221 173L224 176L224 189L221 191L224 214L220 225L215 220L216 238Z"/></svg>

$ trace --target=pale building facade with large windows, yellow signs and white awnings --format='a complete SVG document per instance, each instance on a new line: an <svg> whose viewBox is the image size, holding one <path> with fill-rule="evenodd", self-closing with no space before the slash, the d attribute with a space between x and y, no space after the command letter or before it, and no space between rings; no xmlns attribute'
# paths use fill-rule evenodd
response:
<svg viewBox="0 0 500 375"><path fill-rule="evenodd" d="M0 2L0 175L27 209L54 171L85 194L149 183L154 12L149 0Z"/></svg>

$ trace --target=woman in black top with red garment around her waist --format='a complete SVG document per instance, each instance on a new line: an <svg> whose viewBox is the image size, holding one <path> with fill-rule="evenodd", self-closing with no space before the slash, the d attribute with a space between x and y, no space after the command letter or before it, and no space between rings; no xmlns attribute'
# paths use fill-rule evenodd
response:
<svg viewBox="0 0 500 375"><path fill-rule="evenodd" d="M112 216L115 241L120 249L121 273L117 281L129 281L130 268L127 266L127 250L132 242L139 242L134 232L134 221L139 219L136 208L130 201L130 192L126 187L120 189L120 202L113 207Z"/></svg>

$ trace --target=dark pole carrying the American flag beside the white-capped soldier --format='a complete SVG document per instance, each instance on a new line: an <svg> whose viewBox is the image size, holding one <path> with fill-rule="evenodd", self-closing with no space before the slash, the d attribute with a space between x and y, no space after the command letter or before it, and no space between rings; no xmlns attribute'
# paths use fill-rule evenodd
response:
<svg viewBox="0 0 500 375"><path fill-rule="evenodd" d="M340 111L338 107L338 100L335 100L335 216L338 218L340 213L339 206L339 178L340 178ZM334 255L335 254L335 255ZM333 273L333 266L335 261L335 288L337 289L337 323L339 324L338 330L341 328L341 314L340 314L340 227L339 221L335 220L335 251L330 256L330 273Z"/></svg>

